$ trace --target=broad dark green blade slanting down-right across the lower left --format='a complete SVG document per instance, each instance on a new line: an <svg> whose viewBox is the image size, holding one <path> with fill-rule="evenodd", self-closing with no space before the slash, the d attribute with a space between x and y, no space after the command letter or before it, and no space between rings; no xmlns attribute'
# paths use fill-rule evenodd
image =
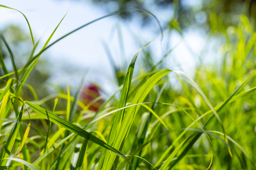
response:
<svg viewBox="0 0 256 170"><path fill-rule="evenodd" d="M84 137L84 138L96 143L97 145L102 146L103 148L107 148L108 150L114 152L115 154L122 157L123 159L127 159L127 157L122 152L120 152L116 148L108 145L104 141L98 139L94 135L91 135L89 132L83 130L82 128L79 128L78 126L70 123L69 121L67 121L55 114L52 114L51 112L37 106L36 104L33 104L28 101L25 101L24 103L28 104L28 106L30 106L30 108L33 109L34 112L41 115L42 117L44 117L46 119L49 118L49 120L52 121L53 123L58 124L58 125L62 126L63 128L65 128L81 137ZM129 162L129 164L132 166L132 164L130 162Z"/></svg>

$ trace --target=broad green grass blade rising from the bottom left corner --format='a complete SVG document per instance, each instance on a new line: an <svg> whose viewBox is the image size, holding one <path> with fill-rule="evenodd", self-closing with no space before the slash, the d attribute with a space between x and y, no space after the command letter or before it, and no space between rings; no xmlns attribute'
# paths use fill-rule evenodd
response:
<svg viewBox="0 0 256 170"><path fill-rule="evenodd" d="M1 162L0 162L0 164L1 164L0 165L0 170L5 169L7 159L4 159L4 158L9 158L9 156L11 154L12 147L14 146L14 141L15 141L15 138L16 138L16 136L18 134L18 131L19 131L19 128L20 128L21 117L22 117L22 114L23 114L23 107L24 107L24 104L22 104L20 114L18 115L18 117L15 121L15 124L14 124L14 126L11 130L11 133L8 136L7 141L5 142L5 146L4 146L4 148L3 148L3 150L0 154L0 158L2 159Z"/></svg>

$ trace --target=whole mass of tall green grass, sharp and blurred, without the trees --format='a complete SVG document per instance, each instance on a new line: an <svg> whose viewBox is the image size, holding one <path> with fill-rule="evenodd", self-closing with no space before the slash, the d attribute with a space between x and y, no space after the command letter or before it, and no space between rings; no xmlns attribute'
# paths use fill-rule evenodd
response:
<svg viewBox="0 0 256 170"><path fill-rule="evenodd" d="M130 10L155 17L147 10ZM163 61L173 49L134 77L138 54L146 53L144 47L150 41L125 71L112 63L120 86L97 111L89 113L92 103L80 101L84 78L74 96L68 84L66 93L43 99L26 85L34 100L22 96L21 90L44 51L79 29L123 11L86 23L49 44L64 16L38 54L34 54L38 42L34 43L28 19L18 11L27 21L33 48L30 60L19 69L8 41L0 35L14 70L9 73L11 68L0 55L5 74L1 79L6 82L0 90L0 170L256 169L256 33L245 15L238 27L225 28L218 16L211 14L212 35L224 41L223 58L207 66L199 64L193 79L181 70L163 69ZM175 19L171 24L182 34ZM148 54L146 59L154 61ZM122 72L126 74L120 75ZM176 79L181 88L174 88L170 79ZM58 99L65 101L65 111ZM45 104L49 101L53 102L51 108Z"/></svg>

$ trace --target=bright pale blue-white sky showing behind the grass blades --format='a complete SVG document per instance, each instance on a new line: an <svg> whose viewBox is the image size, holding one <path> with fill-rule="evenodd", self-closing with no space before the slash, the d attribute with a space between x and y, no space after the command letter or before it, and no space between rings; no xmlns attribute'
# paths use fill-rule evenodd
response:
<svg viewBox="0 0 256 170"><path fill-rule="evenodd" d="M199 5L198 2L200 1L193 0L193 3L188 1L185 5ZM16 8L26 15L35 41L40 39L37 51L41 49L67 11L67 15L49 43L85 23L107 15L102 6L84 1L0 0L0 4ZM156 15L162 25L172 17L171 7L170 9L157 10L154 6L148 5L148 10ZM19 26L27 34L30 34L26 20L20 13L15 10L0 8L0 30L8 25ZM124 53L120 51L117 27L120 28L122 33ZM150 48L153 52L157 62L167 50L179 44L170 57L167 58L166 65L169 69L179 69L188 75L193 75L196 61L188 47L193 49L193 53L199 53L206 41L205 34L202 34L202 30L188 29L185 32L185 38L183 38L176 32L172 32L169 46L166 47L167 34L164 34L163 41L158 38L147 48ZM134 35L139 38L135 38ZM104 86L105 91L109 91L108 94L111 94L114 88L117 88L117 85L114 83L113 69L102 42L107 42L114 62L121 64L124 58L126 63L129 63L140 47L159 35L160 29L155 21L150 26L142 27L141 20L136 17L128 22L119 19L117 16L111 16L69 35L50 47L40 58L48 60L52 66L50 70L52 77L49 81L64 84L68 81L72 84L72 80L80 79L85 70L89 70L86 80ZM31 50L32 47L31 41ZM123 55L124 58L122 58ZM15 57L18 57L18 54ZM138 56L138 63L135 65L135 75L140 71L139 67L142 66L139 58L140 55ZM178 61L179 66L176 63L174 64L174 61Z"/></svg>

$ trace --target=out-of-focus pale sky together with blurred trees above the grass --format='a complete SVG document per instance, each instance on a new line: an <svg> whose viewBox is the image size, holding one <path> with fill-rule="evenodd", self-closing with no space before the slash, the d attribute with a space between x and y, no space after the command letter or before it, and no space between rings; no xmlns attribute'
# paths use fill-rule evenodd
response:
<svg viewBox="0 0 256 170"><path fill-rule="evenodd" d="M222 22L224 28L237 26L241 14L251 15L252 24L256 12L255 1L243 0L11 0L0 1L1 4L22 11L31 23L38 46L42 46L55 29L59 21L68 11L66 17L54 34L53 42L65 33L107 13L127 9L143 8L152 12L160 21L165 33L164 39L152 42L144 53L138 57L139 68L147 67L146 55L153 56L149 61L158 62L170 49L173 51L164 62L165 68L183 70L194 76L196 66L218 62L223 57L221 51L223 39L217 32L219 24L214 17ZM174 3L178 2L178 6ZM177 11L175 11L177 10ZM0 30L9 40L19 68L21 68L32 50L30 32L26 20L17 11L1 8ZM232 32L232 28L228 29ZM86 80L102 88L107 95L118 87L115 79L114 64L124 71L140 47L161 34L153 16L146 12L127 11L102 19L79 32L58 42L40 57L28 84L42 88L42 95L50 87L42 83L64 85L65 80L77 84L82 74L88 71ZM1 50L7 54L6 49ZM37 49L40 50L39 48ZM5 54L5 55L6 55ZM6 58L11 67L11 60ZM106 71L107 70L107 71ZM122 73L124 74L124 72ZM70 81L72 79L72 81ZM75 81L74 81L75 80ZM74 84L74 86L75 86ZM40 94L39 94L40 96ZM43 97L43 96L41 96Z"/></svg>

